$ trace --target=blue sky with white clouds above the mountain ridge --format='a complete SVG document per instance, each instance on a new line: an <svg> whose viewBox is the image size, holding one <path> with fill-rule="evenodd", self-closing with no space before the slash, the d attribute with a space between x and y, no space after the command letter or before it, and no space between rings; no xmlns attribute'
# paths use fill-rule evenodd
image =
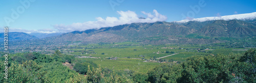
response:
<svg viewBox="0 0 256 83"><path fill-rule="evenodd" d="M255 3L255 0L3 0L0 28L8 26L10 32L66 33L138 22L252 13L256 12Z"/></svg>

